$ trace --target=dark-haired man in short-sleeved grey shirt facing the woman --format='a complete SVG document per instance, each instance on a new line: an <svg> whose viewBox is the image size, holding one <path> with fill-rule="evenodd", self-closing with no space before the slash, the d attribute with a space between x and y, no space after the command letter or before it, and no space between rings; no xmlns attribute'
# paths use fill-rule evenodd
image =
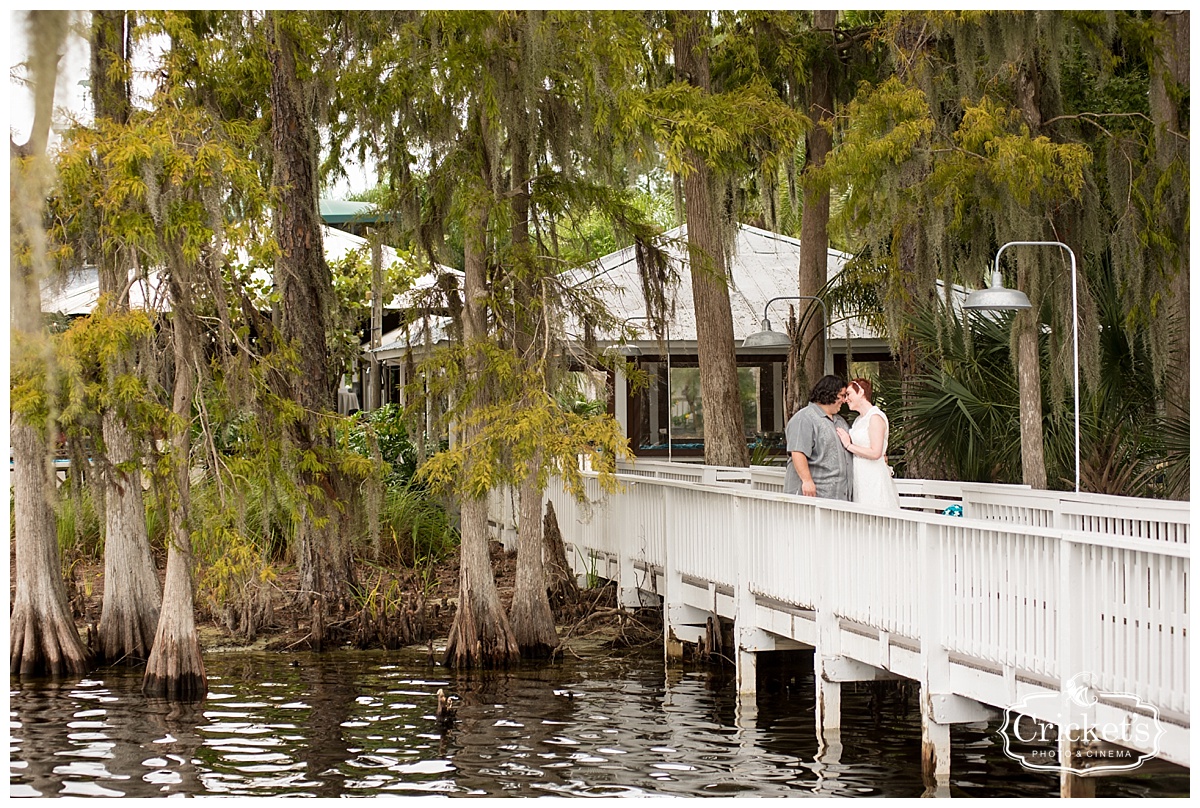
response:
<svg viewBox="0 0 1200 808"><path fill-rule="evenodd" d="M809 406L787 421L787 473L784 492L806 497L851 499L853 455L838 437L838 427L850 431L838 414L846 400L846 383L826 376L809 393Z"/></svg>

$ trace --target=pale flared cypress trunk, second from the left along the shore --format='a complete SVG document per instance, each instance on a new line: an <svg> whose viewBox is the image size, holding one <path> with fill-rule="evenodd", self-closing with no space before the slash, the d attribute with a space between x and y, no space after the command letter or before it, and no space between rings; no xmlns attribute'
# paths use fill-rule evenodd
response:
<svg viewBox="0 0 1200 808"><path fill-rule="evenodd" d="M128 36L122 11L92 12L91 83L96 120L128 121ZM122 297L131 264L119 251L104 249L97 261L100 294L112 311L128 311ZM131 357L116 357L108 383L132 371ZM107 408L101 415L104 438L104 600L97 639L106 662L138 663L150 656L158 609L158 575L150 553L142 499L140 456L124 414Z"/></svg>

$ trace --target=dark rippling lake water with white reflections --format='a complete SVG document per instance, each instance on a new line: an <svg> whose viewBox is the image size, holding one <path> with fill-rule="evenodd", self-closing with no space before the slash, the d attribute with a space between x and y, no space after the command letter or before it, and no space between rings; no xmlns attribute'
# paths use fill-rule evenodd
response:
<svg viewBox="0 0 1200 808"><path fill-rule="evenodd" d="M780 662L782 659L782 662ZM811 657L732 671L661 654L472 676L408 652L210 653L211 693L150 702L140 675L11 681L14 797L920 796L916 687L844 686L841 749L818 750ZM770 670L767 670L767 669ZM449 729L438 688L460 699ZM1057 796L1006 758L998 722L956 726L955 796ZM1098 796L1186 796L1187 770L1104 778Z"/></svg>

